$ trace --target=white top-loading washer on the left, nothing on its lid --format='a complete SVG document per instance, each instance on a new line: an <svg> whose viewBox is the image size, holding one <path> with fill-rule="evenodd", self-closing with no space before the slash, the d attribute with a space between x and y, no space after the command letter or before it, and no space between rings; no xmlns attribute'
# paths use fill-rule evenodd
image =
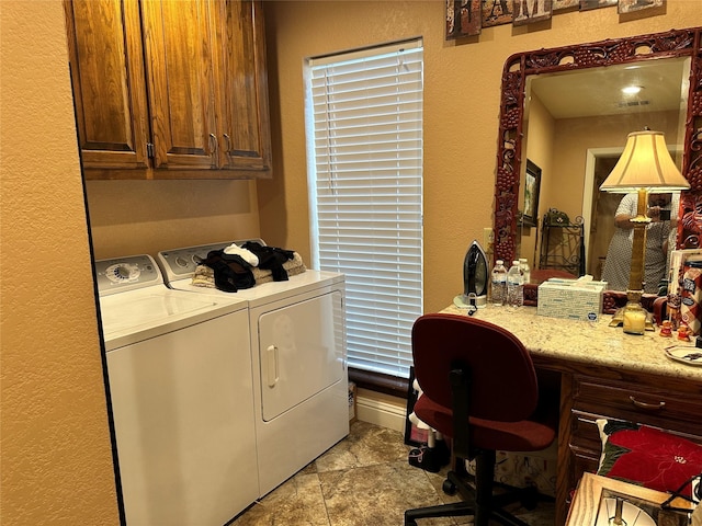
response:
<svg viewBox="0 0 702 526"><path fill-rule="evenodd" d="M247 301L95 262L127 524L213 525L258 498Z"/></svg>

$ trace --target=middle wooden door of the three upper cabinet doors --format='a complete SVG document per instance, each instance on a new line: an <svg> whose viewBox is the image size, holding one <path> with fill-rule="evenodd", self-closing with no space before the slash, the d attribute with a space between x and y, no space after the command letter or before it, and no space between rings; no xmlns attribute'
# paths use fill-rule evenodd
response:
<svg viewBox="0 0 702 526"><path fill-rule="evenodd" d="M206 2L144 0L141 11L155 168L216 168L215 91Z"/></svg>

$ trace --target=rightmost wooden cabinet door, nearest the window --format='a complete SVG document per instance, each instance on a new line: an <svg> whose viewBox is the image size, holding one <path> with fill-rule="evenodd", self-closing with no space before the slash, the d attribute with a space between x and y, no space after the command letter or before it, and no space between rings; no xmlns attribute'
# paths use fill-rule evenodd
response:
<svg viewBox="0 0 702 526"><path fill-rule="evenodd" d="M261 3L216 1L213 33L220 54L216 64L222 108L219 165L259 172L271 168L265 30Z"/></svg>

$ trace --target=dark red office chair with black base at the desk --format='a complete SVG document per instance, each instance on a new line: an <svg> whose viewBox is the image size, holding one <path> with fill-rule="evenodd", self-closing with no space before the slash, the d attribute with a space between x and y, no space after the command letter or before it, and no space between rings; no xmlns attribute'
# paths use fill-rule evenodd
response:
<svg viewBox="0 0 702 526"><path fill-rule="evenodd" d="M443 490L456 489L463 502L407 510L405 526L426 517L475 515L475 526L490 518L528 526L502 510L513 502L534 507L535 488L497 484L496 450L545 449L556 436L558 409L539 407L539 384L529 352L509 331L483 320L424 315L412 328L415 375L423 395L415 413L452 439L453 470ZM543 397L544 401L548 401ZM465 460L475 459L475 477ZM507 490L494 494L494 487Z"/></svg>

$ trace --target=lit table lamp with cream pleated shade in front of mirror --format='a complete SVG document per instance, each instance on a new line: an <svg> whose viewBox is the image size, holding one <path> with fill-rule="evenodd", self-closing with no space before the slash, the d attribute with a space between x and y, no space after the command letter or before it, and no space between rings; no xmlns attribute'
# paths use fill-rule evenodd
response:
<svg viewBox="0 0 702 526"><path fill-rule="evenodd" d="M648 320L648 325L653 330L652 318L641 305L644 294L646 227L650 222L650 218L646 216L648 192L668 193L689 187L690 184L668 152L661 132L646 128L643 132L629 134L622 157L600 185L603 192L638 193L636 217L631 219L634 237L626 306L616 311L610 327L622 324L626 333L644 334Z"/></svg>

